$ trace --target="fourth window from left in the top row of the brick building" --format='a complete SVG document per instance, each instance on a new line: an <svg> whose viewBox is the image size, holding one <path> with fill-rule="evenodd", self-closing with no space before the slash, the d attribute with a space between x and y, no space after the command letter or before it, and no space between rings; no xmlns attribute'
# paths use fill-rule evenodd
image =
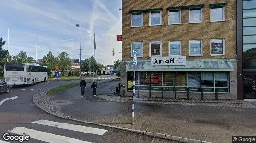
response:
<svg viewBox="0 0 256 143"><path fill-rule="evenodd" d="M201 23L202 22L202 9L193 8L189 9L189 23Z"/></svg>

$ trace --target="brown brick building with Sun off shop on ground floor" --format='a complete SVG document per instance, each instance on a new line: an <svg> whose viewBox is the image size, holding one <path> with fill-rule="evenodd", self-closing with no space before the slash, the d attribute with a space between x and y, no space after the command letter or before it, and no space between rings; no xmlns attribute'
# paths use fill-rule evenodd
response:
<svg viewBox="0 0 256 143"><path fill-rule="evenodd" d="M237 99L236 0L122 0L121 84L163 98ZM170 60L168 60L170 59ZM160 63L161 62L161 63Z"/></svg>

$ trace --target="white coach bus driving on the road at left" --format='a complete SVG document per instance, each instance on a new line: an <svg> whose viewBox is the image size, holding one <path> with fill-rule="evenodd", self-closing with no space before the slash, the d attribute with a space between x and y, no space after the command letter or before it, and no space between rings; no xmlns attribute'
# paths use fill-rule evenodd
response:
<svg viewBox="0 0 256 143"><path fill-rule="evenodd" d="M4 81L9 85L35 85L47 79L46 66L36 63L4 64Z"/></svg>

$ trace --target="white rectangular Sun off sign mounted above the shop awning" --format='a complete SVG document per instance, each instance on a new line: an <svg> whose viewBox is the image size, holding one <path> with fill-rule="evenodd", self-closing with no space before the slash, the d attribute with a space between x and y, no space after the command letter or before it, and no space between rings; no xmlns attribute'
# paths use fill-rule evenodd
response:
<svg viewBox="0 0 256 143"><path fill-rule="evenodd" d="M152 66L186 65L186 56L151 57Z"/></svg>

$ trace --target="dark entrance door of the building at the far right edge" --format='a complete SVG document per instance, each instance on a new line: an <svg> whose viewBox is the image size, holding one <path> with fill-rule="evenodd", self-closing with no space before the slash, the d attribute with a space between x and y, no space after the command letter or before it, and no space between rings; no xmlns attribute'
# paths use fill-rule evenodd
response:
<svg viewBox="0 0 256 143"><path fill-rule="evenodd" d="M244 99L256 99L256 72L244 72Z"/></svg>

